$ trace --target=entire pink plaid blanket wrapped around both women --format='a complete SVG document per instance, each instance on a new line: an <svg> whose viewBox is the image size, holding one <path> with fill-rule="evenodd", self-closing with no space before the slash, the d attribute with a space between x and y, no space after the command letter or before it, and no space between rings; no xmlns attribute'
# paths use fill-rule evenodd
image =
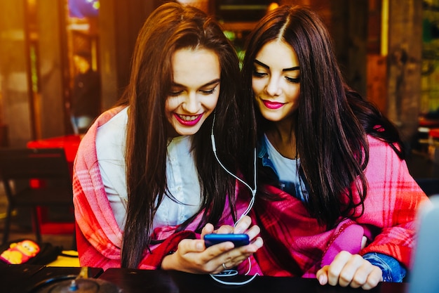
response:
<svg viewBox="0 0 439 293"><path fill-rule="evenodd" d="M73 190L81 266L104 269L121 266L123 231L114 219L104 191L95 149L97 127L120 110L109 110L97 119L81 141L76 155ZM299 200L267 186L283 200L264 202L257 199L251 211L253 222L262 228L264 247L259 249L255 258L250 259L250 275L313 277L341 250L389 254L410 266L416 212L421 202L428 202L428 198L410 176L405 162L400 161L391 148L374 138L370 138L370 162L366 175L369 188L365 213L355 220L345 219L332 229L319 226ZM248 206L247 191L241 190L238 199L239 216ZM175 233L177 227L156 229L152 237L164 242L152 246L152 253L145 252L139 268L157 268L168 252L177 249L182 239L199 237L193 232L199 221L200 217L180 233ZM218 226L222 224L233 224L229 209L224 210ZM370 244L360 250L363 235L368 237ZM247 272L248 262L242 263L238 271Z"/></svg>

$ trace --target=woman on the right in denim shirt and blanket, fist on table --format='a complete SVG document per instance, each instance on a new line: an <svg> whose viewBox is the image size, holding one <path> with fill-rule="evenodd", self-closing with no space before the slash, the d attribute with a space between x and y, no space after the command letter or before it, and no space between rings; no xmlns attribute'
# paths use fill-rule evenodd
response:
<svg viewBox="0 0 439 293"><path fill-rule="evenodd" d="M257 118L262 273L363 289L402 282L427 197L397 129L345 84L318 15L281 6L260 20L243 82Z"/></svg>

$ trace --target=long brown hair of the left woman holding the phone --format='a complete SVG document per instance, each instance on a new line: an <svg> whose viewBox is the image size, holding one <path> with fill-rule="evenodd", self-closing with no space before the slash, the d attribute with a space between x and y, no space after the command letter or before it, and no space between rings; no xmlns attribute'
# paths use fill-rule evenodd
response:
<svg viewBox="0 0 439 293"><path fill-rule="evenodd" d="M166 98L173 81L171 58L180 48L214 51L221 67L221 89L215 109L218 156L230 171L243 161L241 129L245 124L237 97L240 72L236 51L222 28L205 13L190 6L167 3L154 11L137 37L129 85L119 105L129 105L126 138L128 211L123 234L121 266L136 268L149 237L154 214L167 192L166 153L170 124L165 115ZM229 197L234 214L235 180L217 164L210 130L213 114L192 137L196 169L201 183L201 209L205 223L217 223ZM172 127L172 126L171 126ZM245 131L247 132L247 131ZM245 174L245 168L243 168ZM196 195L198 196L198 195ZM195 216L194 216L195 217ZM194 219L181 225L183 229Z"/></svg>

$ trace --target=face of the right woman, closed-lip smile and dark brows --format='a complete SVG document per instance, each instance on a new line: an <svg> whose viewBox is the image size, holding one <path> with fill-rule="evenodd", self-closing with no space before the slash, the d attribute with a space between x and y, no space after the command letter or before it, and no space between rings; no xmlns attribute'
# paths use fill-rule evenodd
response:
<svg viewBox="0 0 439 293"><path fill-rule="evenodd" d="M297 110L300 67L294 49L269 41L257 53L252 74L256 104L265 119L280 122Z"/></svg>

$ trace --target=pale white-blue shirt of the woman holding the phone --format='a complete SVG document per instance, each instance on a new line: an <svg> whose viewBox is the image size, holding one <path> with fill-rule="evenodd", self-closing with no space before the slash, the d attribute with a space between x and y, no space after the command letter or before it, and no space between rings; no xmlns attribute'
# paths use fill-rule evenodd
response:
<svg viewBox="0 0 439 293"><path fill-rule="evenodd" d="M128 195L126 190L126 125L128 108L97 129L96 152L102 182L121 230L125 227ZM177 136L168 144L166 176L168 190L154 216L153 228L175 226L196 214L201 204L198 173L194 165L191 136Z"/></svg>

